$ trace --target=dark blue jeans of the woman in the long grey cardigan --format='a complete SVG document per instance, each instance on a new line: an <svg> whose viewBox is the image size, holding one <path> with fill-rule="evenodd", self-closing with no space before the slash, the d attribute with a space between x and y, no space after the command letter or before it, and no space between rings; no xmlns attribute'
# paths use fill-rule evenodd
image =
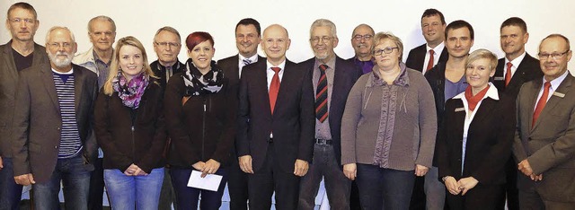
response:
<svg viewBox="0 0 575 210"><path fill-rule="evenodd" d="M382 169L358 163L359 201L365 210L409 209L413 171Z"/></svg>

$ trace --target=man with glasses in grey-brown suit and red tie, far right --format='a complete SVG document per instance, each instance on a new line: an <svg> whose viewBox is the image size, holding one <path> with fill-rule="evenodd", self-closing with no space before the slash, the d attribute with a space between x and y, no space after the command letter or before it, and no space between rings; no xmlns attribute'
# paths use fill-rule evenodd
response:
<svg viewBox="0 0 575 210"><path fill-rule="evenodd" d="M552 34L539 45L543 78L517 95L513 153L520 209L575 209L575 77L569 39Z"/></svg>

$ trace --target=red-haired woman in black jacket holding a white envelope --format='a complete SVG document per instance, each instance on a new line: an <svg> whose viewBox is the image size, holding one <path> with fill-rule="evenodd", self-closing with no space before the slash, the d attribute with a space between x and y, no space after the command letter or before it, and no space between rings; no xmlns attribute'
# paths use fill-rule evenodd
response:
<svg viewBox="0 0 575 210"><path fill-rule="evenodd" d="M165 116L172 139L168 162L178 209L218 209L226 187L222 166L234 143L237 109L236 87L212 61L214 39L207 32L193 32L186 39L185 70L174 74L165 91ZM190 173L223 176L217 191L187 187Z"/></svg>

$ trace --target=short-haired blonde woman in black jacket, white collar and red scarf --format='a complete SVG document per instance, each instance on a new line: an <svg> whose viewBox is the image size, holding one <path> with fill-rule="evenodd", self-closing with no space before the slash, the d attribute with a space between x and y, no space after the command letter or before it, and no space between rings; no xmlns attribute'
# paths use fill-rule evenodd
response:
<svg viewBox="0 0 575 210"><path fill-rule="evenodd" d="M497 57L486 49L465 61L469 86L446 102L438 135L439 177L449 209L496 209L505 183L504 165L514 136L514 101L500 99L489 83ZM506 113L507 112L507 113Z"/></svg>

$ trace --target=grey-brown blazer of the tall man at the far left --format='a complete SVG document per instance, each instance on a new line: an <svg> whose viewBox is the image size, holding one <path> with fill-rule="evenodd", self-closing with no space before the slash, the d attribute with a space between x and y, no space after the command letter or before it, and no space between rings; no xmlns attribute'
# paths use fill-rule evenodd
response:
<svg viewBox="0 0 575 210"><path fill-rule="evenodd" d="M12 119L14 94L18 83L18 70L12 55L12 40L0 46L0 157L12 158ZM34 44L32 66L36 66L46 56L46 48Z"/></svg>

